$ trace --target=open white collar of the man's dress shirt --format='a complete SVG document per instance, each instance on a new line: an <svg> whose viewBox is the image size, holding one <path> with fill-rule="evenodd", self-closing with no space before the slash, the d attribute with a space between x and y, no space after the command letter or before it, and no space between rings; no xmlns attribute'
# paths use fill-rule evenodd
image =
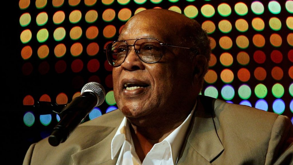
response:
<svg viewBox="0 0 293 165"><path fill-rule="evenodd" d="M191 121L193 112L196 107L196 103L193 107L193 110L190 112L188 117L184 120L184 122L177 127L171 134L169 134L163 141L168 142L171 148L171 157L173 159L174 164L176 164L181 145L184 141L185 134L187 132L189 123ZM129 122L127 121L126 117L123 118L120 126L118 127L118 130L115 134L115 136L112 139L111 142L111 157L114 159L118 151L120 150L122 144L125 142L125 139L128 141L132 140L132 137L130 135L130 130L129 130Z"/></svg>

